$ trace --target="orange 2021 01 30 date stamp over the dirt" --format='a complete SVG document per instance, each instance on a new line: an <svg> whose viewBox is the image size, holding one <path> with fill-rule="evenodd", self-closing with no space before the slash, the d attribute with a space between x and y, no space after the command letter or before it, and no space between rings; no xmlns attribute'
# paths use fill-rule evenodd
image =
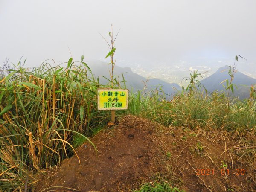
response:
<svg viewBox="0 0 256 192"><path fill-rule="evenodd" d="M216 173L221 175L245 175L244 169L196 169L196 175L215 175Z"/></svg>

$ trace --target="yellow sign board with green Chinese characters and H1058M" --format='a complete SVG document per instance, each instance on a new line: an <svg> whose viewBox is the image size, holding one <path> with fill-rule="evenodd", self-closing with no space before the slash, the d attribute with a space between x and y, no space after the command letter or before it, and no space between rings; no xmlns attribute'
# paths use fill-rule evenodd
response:
<svg viewBox="0 0 256 192"><path fill-rule="evenodd" d="M98 89L98 109L118 110L128 108L127 89Z"/></svg>

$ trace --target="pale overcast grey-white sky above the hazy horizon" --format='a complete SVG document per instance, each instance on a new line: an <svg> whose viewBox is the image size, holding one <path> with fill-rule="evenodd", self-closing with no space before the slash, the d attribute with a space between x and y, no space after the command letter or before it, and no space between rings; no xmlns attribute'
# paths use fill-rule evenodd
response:
<svg viewBox="0 0 256 192"><path fill-rule="evenodd" d="M256 61L255 0L0 0L0 62L39 66L103 59L113 24L116 59ZM70 51L68 49L70 48ZM117 63L118 64L118 63Z"/></svg>

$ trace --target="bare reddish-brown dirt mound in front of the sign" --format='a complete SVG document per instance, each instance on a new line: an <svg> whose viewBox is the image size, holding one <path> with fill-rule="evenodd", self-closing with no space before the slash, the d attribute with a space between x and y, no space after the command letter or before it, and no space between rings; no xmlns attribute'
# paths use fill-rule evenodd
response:
<svg viewBox="0 0 256 192"><path fill-rule="evenodd" d="M255 165L243 162L238 151L230 152L237 144L224 136L126 116L91 140L98 157L85 143L77 152L80 164L76 156L65 159L51 179L45 176L38 183L37 191L130 191L155 180L192 192L256 190Z"/></svg>

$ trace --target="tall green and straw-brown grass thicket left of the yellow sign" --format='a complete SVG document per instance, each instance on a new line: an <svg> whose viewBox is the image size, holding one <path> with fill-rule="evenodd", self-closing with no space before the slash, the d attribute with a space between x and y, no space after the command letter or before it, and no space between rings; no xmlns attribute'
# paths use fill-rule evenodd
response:
<svg viewBox="0 0 256 192"><path fill-rule="evenodd" d="M79 65L72 58L65 65L11 70L0 80L3 191L23 190L25 184L31 188L27 176L33 181L34 171L73 155L73 135L90 142L83 135L108 119L108 111L96 110L97 88L103 86L88 74L91 71L83 58Z"/></svg>

